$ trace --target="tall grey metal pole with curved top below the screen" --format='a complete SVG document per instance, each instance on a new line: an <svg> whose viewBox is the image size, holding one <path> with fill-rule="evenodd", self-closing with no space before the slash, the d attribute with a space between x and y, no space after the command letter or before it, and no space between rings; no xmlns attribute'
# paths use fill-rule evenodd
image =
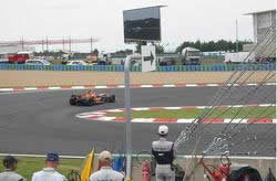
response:
<svg viewBox="0 0 277 181"><path fill-rule="evenodd" d="M130 62L132 55L129 55L124 64L124 82L125 82L125 108L126 108L126 180L131 180L132 164L132 123L131 123L131 97L130 97Z"/></svg>

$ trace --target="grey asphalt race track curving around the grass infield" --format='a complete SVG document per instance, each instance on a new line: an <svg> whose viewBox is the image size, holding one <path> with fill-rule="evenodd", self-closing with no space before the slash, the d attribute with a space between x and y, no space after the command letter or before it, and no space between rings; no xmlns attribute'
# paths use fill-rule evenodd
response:
<svg viewBox="0 0 277 181"><path fill-rule="evenodd" d="M220 87L186 88L134 88L131 89L132 107L162 106L206 106ZM234 97L247 95L255 86L234 87L234 96L225 97L222 105L237 105ZM93 146L96 152L109 149L114 153L124 152L125 125L79 119L76 114L124 107L124 89L99 89L116 95L115 104L93 107L69 105L72 93L84 91L55 91L19 94L0 94L0 152L2 153L45 153L55 150L61 155L84 156ZM271 93L268 98L264 96ZM271 104L276 102L276 86L264 86L252 96L248 104ZM187 124L167 124L170 140L175 140ZM202 151L213 136L226 125L207 125L197 148ZM158 124L132 124L133 151L140 153L151 150L151 142L157 139ZM240 127L240 126L239 126ZM275 156L275 125L243 125L244 131L233 138L230 153L236 156ZM230 128L229 128L230 129ZM255 139L256 138L256 139ZM246 142L244 140L250 139ZM254 140L252 140L254 139ZM195 148L195 140L182 147L182 155L189 155ZM144 152L145 153L145 152Z"/></svg>

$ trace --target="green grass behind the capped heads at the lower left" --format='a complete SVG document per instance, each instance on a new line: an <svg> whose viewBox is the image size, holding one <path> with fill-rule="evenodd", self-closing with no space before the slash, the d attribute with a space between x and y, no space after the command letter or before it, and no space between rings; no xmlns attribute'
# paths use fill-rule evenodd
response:
<svg viewBox="0 0 277 181"><path fill-rule="evenodd" d="M23 175L27 180L31 180L32 174L37 171L40 171L44 167L45 158L25 158L25 157L17 157L20 161L18 163L17 172ZM3 157L0 157L0 172L4 170L2 166ZM58 171L68 177L68 173L74 169L80 170L82 166L83 159L61 159Z"/></svg>

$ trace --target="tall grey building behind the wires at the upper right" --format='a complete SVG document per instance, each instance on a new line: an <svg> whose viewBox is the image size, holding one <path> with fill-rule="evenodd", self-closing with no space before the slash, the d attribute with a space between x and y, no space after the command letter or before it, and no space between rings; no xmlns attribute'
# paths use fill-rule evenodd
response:
<svg viewBox="0 0 277 181"><path fill-rule="evenodd" d="M254 44L245 44L244 51L249 52L257 43L263 42L255 53L263 57L276 57L276 9L250 12L245 15L253 15ZM269 28L271 28L270 32ZM261 49L264 46L266 46L265 50Z"/></svg>

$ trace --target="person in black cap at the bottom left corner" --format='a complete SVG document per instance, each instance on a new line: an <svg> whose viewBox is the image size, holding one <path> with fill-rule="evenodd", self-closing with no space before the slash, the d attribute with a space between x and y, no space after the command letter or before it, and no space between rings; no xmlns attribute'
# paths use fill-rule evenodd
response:
<svg viewBox="0 0 277 181"><path fill-rule="evenodd" d="M0 181L25 181L25 178L16 173L18 169L18 159L7 156L3 159L6 171L0 173Z"/></svg>

